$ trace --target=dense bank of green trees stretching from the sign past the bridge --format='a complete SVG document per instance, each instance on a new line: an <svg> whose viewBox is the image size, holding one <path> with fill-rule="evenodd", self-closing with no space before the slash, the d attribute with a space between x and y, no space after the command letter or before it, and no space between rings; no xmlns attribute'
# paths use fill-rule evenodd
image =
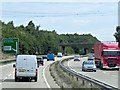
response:
<svg viewBox="0 0 120 90"><path fill-rule="evenodd" d="M13 21L5 24L0 21L2 29L2 38L19 38L20 54L47 54L62 51L60 43L81 43L98 42L96 37L91 34L61 34L58 35L55 30L39 30L40 26L30 21L27 26L14 26ZM82 47L67 47L66 52L69 54L78 53ZM88 48L91 48L88 46Z"/></svg>

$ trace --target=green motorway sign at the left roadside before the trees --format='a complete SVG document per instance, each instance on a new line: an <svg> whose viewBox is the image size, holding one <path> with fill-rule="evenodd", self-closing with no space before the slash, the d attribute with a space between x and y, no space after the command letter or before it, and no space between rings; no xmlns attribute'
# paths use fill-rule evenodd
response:
<svg viewBox="0 0 120 90"><path fill-rule="evenodd" d="M17 38L3 39L3 53L18 54L18 52L19 52L19 39Z"/></svg>

